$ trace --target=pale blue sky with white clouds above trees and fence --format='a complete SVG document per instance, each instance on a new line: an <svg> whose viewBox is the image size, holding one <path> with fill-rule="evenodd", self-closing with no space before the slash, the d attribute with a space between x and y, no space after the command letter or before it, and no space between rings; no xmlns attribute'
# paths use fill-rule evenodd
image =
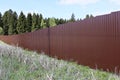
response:
<svg viewBox="0 0 120 80"><path fill-rule="evenodd" d="M119 0L1 0L0 12L12 9L18 14L31 12L41 13L44 17L69 19L71 14L75 18L84 18L86 14L103 15L120 11Z"/></svg>

